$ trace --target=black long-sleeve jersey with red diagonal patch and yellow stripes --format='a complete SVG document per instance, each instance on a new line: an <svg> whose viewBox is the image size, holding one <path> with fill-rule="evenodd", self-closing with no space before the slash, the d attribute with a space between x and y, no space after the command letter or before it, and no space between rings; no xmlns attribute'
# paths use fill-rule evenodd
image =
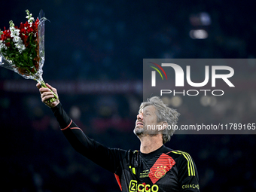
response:
<svg viewBox="0 0 256 192"><path fill-rule="evenodd" d="M194 160L183 151L162 146L150 154L107 148L90 139L71 120L61 103L52 111L62 133L72 147L102 168L113 172L120 190L131 191L199 191Z"/></svg>

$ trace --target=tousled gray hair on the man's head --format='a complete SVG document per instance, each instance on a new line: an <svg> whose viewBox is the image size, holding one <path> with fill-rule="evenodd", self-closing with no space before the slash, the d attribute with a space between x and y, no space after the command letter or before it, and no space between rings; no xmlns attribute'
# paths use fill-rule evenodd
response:
<svg viewBox="0 0 256 192"><path fill-rule="evenodd" d="M139 107L139 112L142 111L146 106L153 105L156 108L157 122L166 121L168 125L171 125L172 129L163 130L163 143L169 142L171 140L171 136L175 132L173 127L178 122L178 116L180 115L175 109L169 108L165 105L158 96L153 96L147 99L147 102L142 102Z"/></svg>

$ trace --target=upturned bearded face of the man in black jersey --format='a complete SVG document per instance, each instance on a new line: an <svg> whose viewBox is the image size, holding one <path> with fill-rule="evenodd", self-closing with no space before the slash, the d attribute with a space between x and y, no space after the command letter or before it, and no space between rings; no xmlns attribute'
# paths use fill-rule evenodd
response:
<svg viewBox="0 0 256 192"><path fill-rule="evenodd" d="M148 105L142 109L142 111L137 115L136 126L133 133L136 136L142 135L155 135L159 133L157 130L157 114L154 105Z"/></svg>

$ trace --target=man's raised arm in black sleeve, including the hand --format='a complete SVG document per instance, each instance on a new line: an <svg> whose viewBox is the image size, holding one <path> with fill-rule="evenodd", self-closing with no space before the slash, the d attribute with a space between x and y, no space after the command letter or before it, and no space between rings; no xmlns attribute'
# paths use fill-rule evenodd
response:
<svg viewBox="0 0 256 192"><path fill-rule="evenodd" d="M41 93L41 101L51 108L56 120L59 122L60 130L62 130L62 133L64 133L72 147L80 154L84 155L84 157L87 157L94 163L102 166L102 168L114 173L119 166L120 160L125 157L126 151L107 148L86 136L69 115L66 114L59 99L56 99L54 102L48 102L48 99L54 97L53 93L55 93L56 96L58 96L58 94L54 87L51 87L49 84L46 85L49 89L40 87L40 84L36 85Z"/></svg>

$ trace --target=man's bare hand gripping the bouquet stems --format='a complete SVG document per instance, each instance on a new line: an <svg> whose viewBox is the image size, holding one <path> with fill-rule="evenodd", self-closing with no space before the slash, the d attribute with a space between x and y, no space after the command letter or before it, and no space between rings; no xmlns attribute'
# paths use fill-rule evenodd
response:
<svg viewBox="0 0 256 192"><path fill-rule="evenodd" d="M41 84L36 84L36 87L38 87L39 92L41 93L41 101L44 102L45 105L47 105L49 108L54 108L56 105L59 104L59 99L55 99L54 102L49 102L48 99L54 98L53 93L56 94L56 96L59 98L57 90L54 87L51 87L50 84L46 84L49 88L41 87ZM52 90L53 92L51 92Z"/></svg>

